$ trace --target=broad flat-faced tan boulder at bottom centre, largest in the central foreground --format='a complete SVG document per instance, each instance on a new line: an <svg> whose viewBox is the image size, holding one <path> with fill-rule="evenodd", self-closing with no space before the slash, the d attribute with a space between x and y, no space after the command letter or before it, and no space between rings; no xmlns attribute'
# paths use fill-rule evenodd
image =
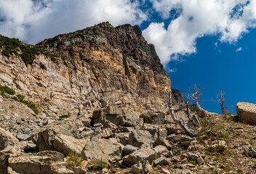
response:
<svg viewBox="0 0 256 174"><path fill-rule="evenodd" d="M121 159L121 146L109 139L94 139L84 146L81 158L116 162Z"/></svg>

